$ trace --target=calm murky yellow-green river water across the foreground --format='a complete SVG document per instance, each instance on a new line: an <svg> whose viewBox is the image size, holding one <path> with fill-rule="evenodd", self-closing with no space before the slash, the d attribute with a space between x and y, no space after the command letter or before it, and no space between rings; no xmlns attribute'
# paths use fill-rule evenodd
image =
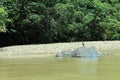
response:
<svg viewBox="0 0 120 80"><path fill-rule="evenodd" d="M120 80L120 56L0 59L0 80Z"/></svg>

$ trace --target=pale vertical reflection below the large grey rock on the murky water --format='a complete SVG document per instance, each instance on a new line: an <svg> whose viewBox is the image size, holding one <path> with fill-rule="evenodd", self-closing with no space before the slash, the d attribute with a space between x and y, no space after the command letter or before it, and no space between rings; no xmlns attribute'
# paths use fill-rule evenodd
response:
<svg viewBox="0 0 120 80"><path fill-rule="evenodd" d="M79 58L79 73L83 80L96 80L97 64L99 58Z"/></svg>

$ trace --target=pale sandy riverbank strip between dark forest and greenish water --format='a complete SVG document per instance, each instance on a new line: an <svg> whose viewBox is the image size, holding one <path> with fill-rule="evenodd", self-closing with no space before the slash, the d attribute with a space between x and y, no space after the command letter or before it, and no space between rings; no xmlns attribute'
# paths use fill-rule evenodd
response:
<svg viewBox="0 0 120 80"><path fill-rule="evenodd" d="M84 44L86 47L94 46L98 51L120 49L120 41L87 41L84 42ZM74 50L81 46L82 42L10 46L0 48L0 57L23 58L54 56L57 52Z"/></svg>

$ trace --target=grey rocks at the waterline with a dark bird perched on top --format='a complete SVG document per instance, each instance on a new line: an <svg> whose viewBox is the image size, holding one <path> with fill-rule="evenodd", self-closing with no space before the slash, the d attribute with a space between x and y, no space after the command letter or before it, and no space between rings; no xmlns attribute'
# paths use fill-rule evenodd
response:
<svg viewBox="0 0 120 80"><path fill-rule="evenodd" d="M95 49L95 47L80 47L74 51L62 51L56 54L56 57L98 57L99 53Z"/></svg>

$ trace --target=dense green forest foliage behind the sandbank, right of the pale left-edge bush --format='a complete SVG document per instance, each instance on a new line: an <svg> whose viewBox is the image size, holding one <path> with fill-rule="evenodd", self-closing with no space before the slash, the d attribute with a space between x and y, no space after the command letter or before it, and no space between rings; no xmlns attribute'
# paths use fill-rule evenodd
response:
<svg viewBox="0 0 120 80"><path fill-rule="evenodd" d="M2 7L11 20L2 26L18 43L120 39L120 0L3 0Z"/></svg>

